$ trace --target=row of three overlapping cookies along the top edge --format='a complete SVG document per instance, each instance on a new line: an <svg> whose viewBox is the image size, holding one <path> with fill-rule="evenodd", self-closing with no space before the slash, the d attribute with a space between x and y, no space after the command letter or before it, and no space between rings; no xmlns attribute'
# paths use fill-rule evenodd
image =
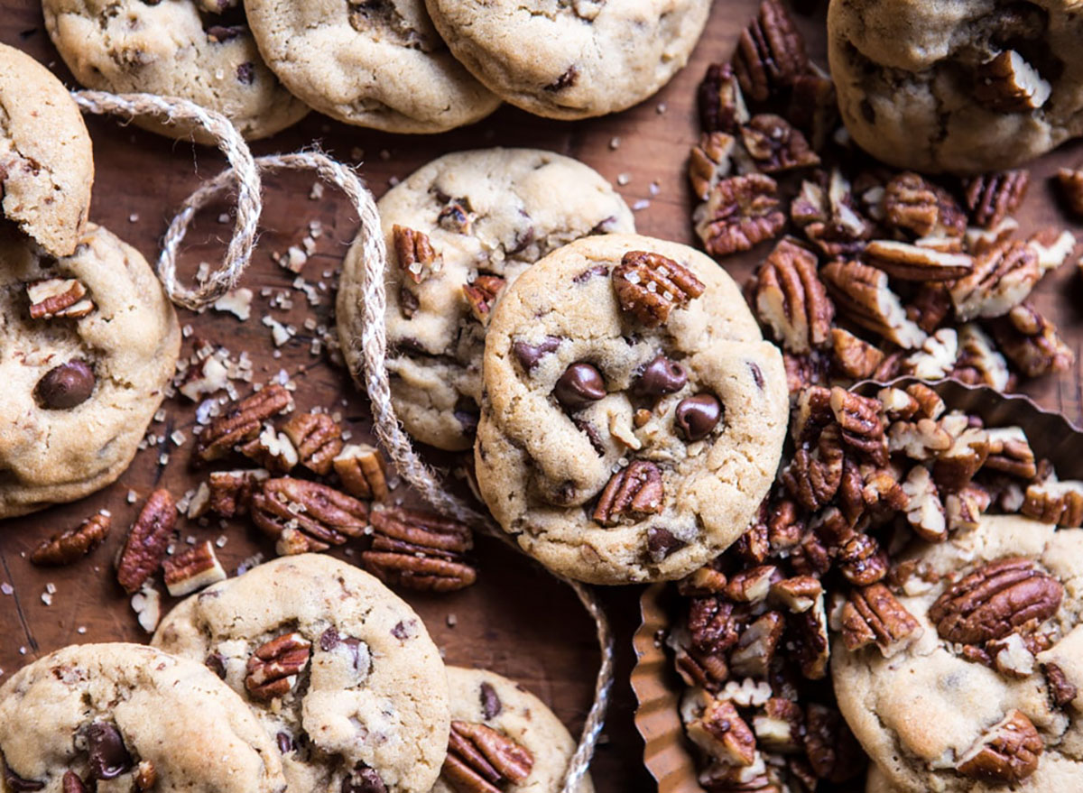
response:
<svg viewBox="0 0 1083 793"><path fill-rule="evenodd" d="M83 86L192 100L255 140L310 107L409 133L473 123L501 101L551 118L621 110L688 62L709 2L42 0L42 9ZM188 125L138 122L207 142Z"/></svg>

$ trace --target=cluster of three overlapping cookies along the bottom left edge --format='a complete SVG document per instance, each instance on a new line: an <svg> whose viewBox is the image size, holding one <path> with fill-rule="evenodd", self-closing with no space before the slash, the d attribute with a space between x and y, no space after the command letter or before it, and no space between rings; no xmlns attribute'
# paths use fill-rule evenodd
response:
<svg viewBox="0 0 1083 793"><path fill-rule="evenodd" d="M0 688L4 790L551 791L574 749L537 698L445 668L409 606L314 555L182 601L152 647L69 647Z"/></svg>

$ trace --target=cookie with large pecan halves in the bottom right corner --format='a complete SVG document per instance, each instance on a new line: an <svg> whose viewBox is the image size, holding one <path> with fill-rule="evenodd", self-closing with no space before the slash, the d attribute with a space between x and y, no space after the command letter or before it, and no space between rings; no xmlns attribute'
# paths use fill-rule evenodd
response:
<svg viewBox="0 0 1083 793"><path fill-rule="evenodd" d="M900 793L1083 790L1083 530L986 517L898 568L909 615L851 596L832 654L839 708L887 781ZM889 634L898 619L917 623L909 647L846 649L847 632Z"/></svg>

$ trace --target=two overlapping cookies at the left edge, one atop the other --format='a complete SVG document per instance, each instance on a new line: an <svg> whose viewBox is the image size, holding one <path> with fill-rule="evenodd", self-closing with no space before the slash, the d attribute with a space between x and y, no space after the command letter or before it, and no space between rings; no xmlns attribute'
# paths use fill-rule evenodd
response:
<svg viewBox="0 0 1083 793"><path fill-rule="evenodd" d="M115 481L180 350L146 260L87 222L94 166L67 90L0 47L0 518Z"/></svg>

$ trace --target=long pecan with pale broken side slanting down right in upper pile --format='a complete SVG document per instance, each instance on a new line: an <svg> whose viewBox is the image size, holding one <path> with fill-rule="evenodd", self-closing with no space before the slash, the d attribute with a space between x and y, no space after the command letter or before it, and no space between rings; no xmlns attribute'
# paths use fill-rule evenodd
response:
<svg viewBox="0 0 1083 793"><path fill-rule="evenodd" d="M833 261L820 269L820 280L836 308L861 327L903 349L921 347L925 332L906 317L899 297L888 287L887 273L857 261Z"/></svg>

